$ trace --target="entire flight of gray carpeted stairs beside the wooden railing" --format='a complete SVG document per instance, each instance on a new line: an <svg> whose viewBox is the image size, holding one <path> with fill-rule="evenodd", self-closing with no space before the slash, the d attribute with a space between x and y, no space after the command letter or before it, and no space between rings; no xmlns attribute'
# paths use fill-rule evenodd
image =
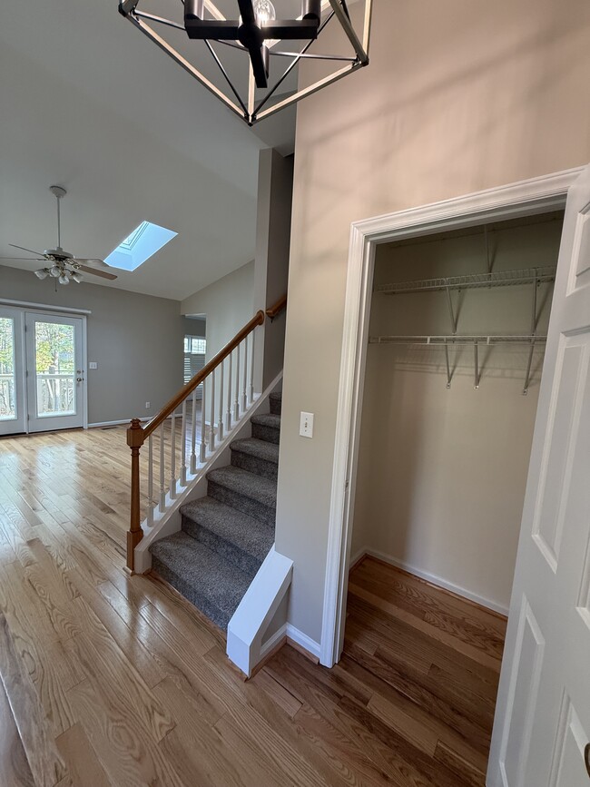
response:
<svg viewBox="0 0 590 787"><path fill-rule="evenodd" d="M280 393L231 443L231 465L207 473L208 495L181 507L182 530L150 547L152 570L222 629L274 544Z"/></svg>

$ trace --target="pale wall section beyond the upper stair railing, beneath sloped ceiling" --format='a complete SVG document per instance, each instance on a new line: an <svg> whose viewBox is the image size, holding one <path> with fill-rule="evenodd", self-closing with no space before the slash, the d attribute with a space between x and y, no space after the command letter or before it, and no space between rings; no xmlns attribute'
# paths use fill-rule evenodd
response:
<svg viewBox="0 0 590 787"><path fill-rule="evenodd" d="M254 262L182 300L181 312L205 316L206 359L211 360L254 315Z"/></svg>

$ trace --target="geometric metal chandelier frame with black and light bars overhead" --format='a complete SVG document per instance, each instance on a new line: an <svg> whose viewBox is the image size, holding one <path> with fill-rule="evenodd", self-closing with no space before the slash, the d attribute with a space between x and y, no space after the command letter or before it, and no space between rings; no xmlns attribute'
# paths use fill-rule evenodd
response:
<svg viewBox="0 0 590 787"><path fill-rule="evenodd" d="M120 0L119 12L250 126L369 64L369 36L373 0L365 0L363 28L360 34L356 32L351 21L347 0L301 0L301 15L297 19L265 21L264 24L261 24L255 15L252 0L237 0L239 19L226 19L211 0L179 0L182 3L184 15L183 25L163 16L143 12L139 8L140 2L141 0ZM347 56L309 52L311 44L332 19L335 19L341 26L349 39L354 54ZM172 44L169 44L162 38L162 35L153 29L151 23L182 30L190 39L202 40L214 63L221 71L232 97L213 84L202 71L174 49ZM284 49L276 49L274 45L268 43L270 40L274 42L277 40L281 42L298 40L305 41L305 44L300 51L289 52ZM247 97L241 96L211 42L231 46L250 56ZM290 64L272 85L268 84L270 57L290 58ZM344 65L313 84L267 106L270 98L277 92L295 66L306 59L334 61L335 63L344 63ZM257 98L257 88L267 89L267 92Z"/></svg>

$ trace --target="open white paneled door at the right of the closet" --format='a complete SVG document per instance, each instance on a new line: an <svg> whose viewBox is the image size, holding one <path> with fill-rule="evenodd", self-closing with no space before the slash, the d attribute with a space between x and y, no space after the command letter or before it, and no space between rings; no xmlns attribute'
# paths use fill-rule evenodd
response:
<svg viewBox="0 0 590 787"><path fill-rule="evenodd" d="M568 193L489 787L590 787L590 168Z"/></svg>

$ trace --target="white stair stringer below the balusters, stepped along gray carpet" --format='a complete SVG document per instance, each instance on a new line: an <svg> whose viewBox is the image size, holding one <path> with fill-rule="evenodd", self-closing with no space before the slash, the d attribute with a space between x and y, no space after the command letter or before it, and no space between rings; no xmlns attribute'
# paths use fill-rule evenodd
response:
<svg viewBox="0 0 590 787"><path fill-rule="evenodd" d="M156 541L165 536L172 536L182 529L182 514L180 507L192 500L198 500L207 495L207 473L217 467L224 467L231 464L230 444L237 439L251 437L250 418L255 415L262 415L270 411L270 394L279 386L282 379L282 372L272 380L267 389L247 408L242 414L237 424L231 428L221 440L219 446L210 454L206 460L197 466L197 472L192 476L187 476L185 486L180 486L175 497L170 493L166 496L166 508L161 513L158 508L153 511L153 524L149 526L147 520L142 523L143 538L135 547L135 573L145 574L152 568L152 556L149 547Z"/></svg>

